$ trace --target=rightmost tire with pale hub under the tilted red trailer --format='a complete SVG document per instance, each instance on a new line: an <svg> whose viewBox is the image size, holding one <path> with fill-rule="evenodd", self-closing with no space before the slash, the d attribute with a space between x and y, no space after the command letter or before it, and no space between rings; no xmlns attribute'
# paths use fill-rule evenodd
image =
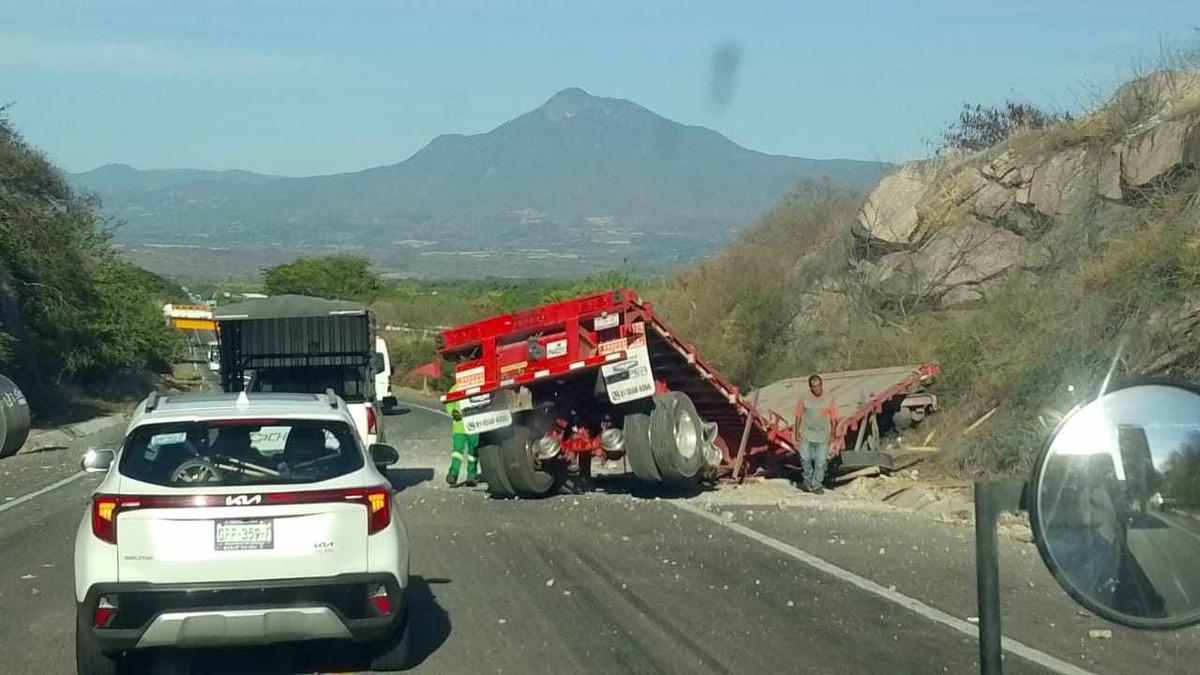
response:
<svg viewBox="0 0 1200 675"><path fill-rule="evenodd" d="M666 483L694 484L704 465L704 429L696 405L686 394L655 396L650 413L654 464Z"/></svg>

